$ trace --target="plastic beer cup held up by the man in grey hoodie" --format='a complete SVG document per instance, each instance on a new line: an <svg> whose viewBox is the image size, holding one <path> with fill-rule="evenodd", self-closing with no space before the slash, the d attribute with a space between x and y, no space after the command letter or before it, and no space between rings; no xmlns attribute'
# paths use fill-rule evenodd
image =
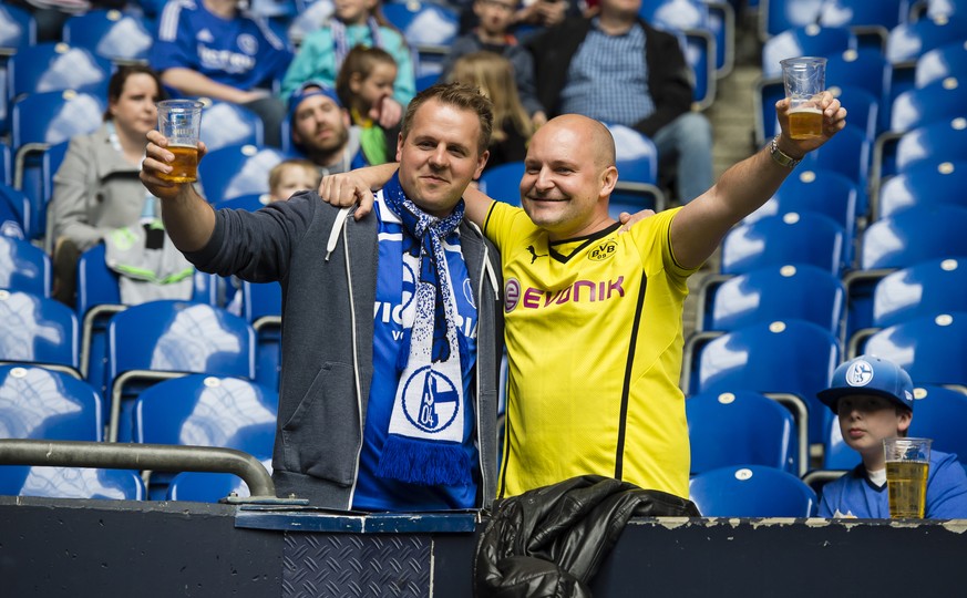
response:
<svg viewBox="0 0 967 598"><path fill-rule="evenodd" d="M165 100L157 103L157 130L168 138L168 152L175 155L172 172L158 178L172 183L198 179L198 137L202 134L202 102Z"/></svg>

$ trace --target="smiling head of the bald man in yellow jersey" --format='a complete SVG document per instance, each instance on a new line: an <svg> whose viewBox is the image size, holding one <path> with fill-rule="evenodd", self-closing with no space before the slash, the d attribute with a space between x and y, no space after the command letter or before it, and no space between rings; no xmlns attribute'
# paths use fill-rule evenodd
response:
<svg viewBox="0 0 967 598"><path fill-rule="evenodd" d="M585 116L558 116L527 147L521 204L552 240L596 233L614 223L608 197L618 179L614 141Z"/></svg>

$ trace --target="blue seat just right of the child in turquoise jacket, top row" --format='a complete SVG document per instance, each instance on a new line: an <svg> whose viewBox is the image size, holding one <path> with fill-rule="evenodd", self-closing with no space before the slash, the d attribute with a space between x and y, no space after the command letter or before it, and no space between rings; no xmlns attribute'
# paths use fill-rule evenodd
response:
<svg viewBox="0 0 967 598"><path fill-rule="evenodd" d="M415 75L440 73L443 59L460 31L456 10L432 2L385 2L383 17L403 34L416 54Z"/></svg>

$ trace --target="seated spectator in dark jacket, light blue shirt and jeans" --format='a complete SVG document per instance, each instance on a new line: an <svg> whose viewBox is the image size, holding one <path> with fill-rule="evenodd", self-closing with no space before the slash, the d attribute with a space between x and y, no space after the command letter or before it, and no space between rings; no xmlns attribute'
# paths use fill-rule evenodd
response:
<svg viewBox="0 0 967 598"><path fill-rule="evenodd" d="M713 183L712 128L691 111L692 72L678 39L638 17L640 7L600 0L597 17L570 18L534 38L537 97L548 116L584 114L650 137L659 174L673 168L685 204Z"/></svg>

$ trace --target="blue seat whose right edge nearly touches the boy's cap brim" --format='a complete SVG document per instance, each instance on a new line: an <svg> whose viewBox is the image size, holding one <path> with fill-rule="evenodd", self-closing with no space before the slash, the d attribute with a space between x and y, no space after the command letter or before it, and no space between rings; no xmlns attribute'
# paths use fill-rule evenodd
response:
<svg viewBox="0 0 967 598"><path fill-rule="evenodd" d="M827 420L816 392L829 385L840 363L840 342L802 320L778 320L729 331L682 362L686 394L752 390L780 400L799 414L810 443L822 442ZM802 413L802 409L804 412Z"/></svg>

